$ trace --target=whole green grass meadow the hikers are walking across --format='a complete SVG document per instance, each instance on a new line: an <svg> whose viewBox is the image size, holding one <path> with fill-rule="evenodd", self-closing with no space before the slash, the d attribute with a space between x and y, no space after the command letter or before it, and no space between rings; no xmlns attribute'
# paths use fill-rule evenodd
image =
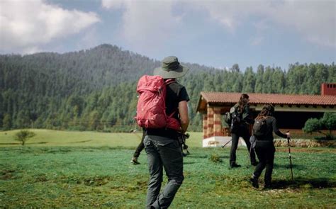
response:
<svg viewBox="0 0 336 209"><path fill-rule="evenodd" d="M33 131L25 146L13 145L17 130L0 132L0 208L145 208L145 151L130 164L140 133ZM171 208L336 207L335 149L292 148L292 183L287 149L278 148L274 188L264 191L250 186L246 147L237 150L242 167L228 169L228 148L201 148L194 132L188 145Z"/></svg>

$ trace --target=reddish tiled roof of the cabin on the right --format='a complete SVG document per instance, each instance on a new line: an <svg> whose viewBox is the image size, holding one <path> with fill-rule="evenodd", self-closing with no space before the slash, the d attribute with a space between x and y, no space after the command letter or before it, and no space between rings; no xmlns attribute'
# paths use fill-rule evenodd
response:
<svg viewBox="0 0 336 209"><path fill-rule="evenodd" d="M200 106L201 100L207 103L237 103L241 93L228 92L201 92L201 98L198 102ZM298 94L248 94L251 104L284 104L284 105L323 105L335 106L336 96L320 96L320 95L298 95Z"/></svg>

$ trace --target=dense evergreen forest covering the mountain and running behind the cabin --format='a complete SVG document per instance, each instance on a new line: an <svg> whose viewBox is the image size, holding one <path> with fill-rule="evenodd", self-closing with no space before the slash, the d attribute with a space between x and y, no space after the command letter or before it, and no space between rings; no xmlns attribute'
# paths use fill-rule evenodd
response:
<svg viewBox="0 0 336 209"><path fill-rule="evenodd" d="M190 130L201 130L196 113L200 91L320 94L320 84L336 82L332 64L291 64L289 69L247 67L228 70L184 63L179 79L191 98ZM99 45L58 54L0 55L0 129L129 131L135 127L136 83L160 62Z"/></svg>

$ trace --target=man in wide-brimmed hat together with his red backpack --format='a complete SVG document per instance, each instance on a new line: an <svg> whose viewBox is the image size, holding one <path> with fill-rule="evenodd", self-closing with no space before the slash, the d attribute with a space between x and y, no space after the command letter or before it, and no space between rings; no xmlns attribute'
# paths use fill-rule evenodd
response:
<svg viewBox="0 0 336 209"><path fill-rule="evenodd" d="M177 83L176 79L183 77L188 70L188 67L179 64L177 57L166 57L162 60L162 66L154 70L154 75L158 77L145 77L145 81L149 82L149 84L143 85L142 79L138 83L139 101L143 99L144 103L146 102L144 98L141 98L142 90L151 89L150 85L155 85L156 82L159 82L159 77L162 77L164 86L162 88L159 87L157 100L160 99L162 94L165 94L163 116L162 113L159 113L161 111L160 108L157 107L160 105L152 104L157 101L150 101L145 105L140 104L138 101L136 120L146 130L143 143L150 171L146 208L168 208L184 180L183 156L178 136L186 132L189 125L187 105L189 96L186 88ZM141 87L146 85L147 87ZM145 94L148 93L146 92ZM147 113L145 109L151 104L153 105L150 108L152 111ZM143 113L143 111L146 113ZM163 169L168 177L168 183L162 188L160 193Z"/></svg>

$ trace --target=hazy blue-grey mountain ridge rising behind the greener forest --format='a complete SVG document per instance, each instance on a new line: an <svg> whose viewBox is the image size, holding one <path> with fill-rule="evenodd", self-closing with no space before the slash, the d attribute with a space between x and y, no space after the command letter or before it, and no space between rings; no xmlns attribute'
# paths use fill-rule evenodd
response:
<svg viewBox="0 0 336 209"><path fill-rule="evenodd" d="M103 44L89 50L67 52L58 54L55 52L40 52L33 55L0 55L1 64L11 62L11 70L19 74L33 71L34 74L56 79L58 75L65 76L68 90L72 85L80 85L84 89L101 89L104 86L119 84L124 81L136 81L143 74L152 74L160 62L148 57L122 50L116 45ZM211 67L189 64L193 72L213 70ZM2 72L4 73L4 72ZM16 74L17 75L17 74ZM21 78L9 78L12 80ZM2 89L16 86L1 86Z"/></svg>

